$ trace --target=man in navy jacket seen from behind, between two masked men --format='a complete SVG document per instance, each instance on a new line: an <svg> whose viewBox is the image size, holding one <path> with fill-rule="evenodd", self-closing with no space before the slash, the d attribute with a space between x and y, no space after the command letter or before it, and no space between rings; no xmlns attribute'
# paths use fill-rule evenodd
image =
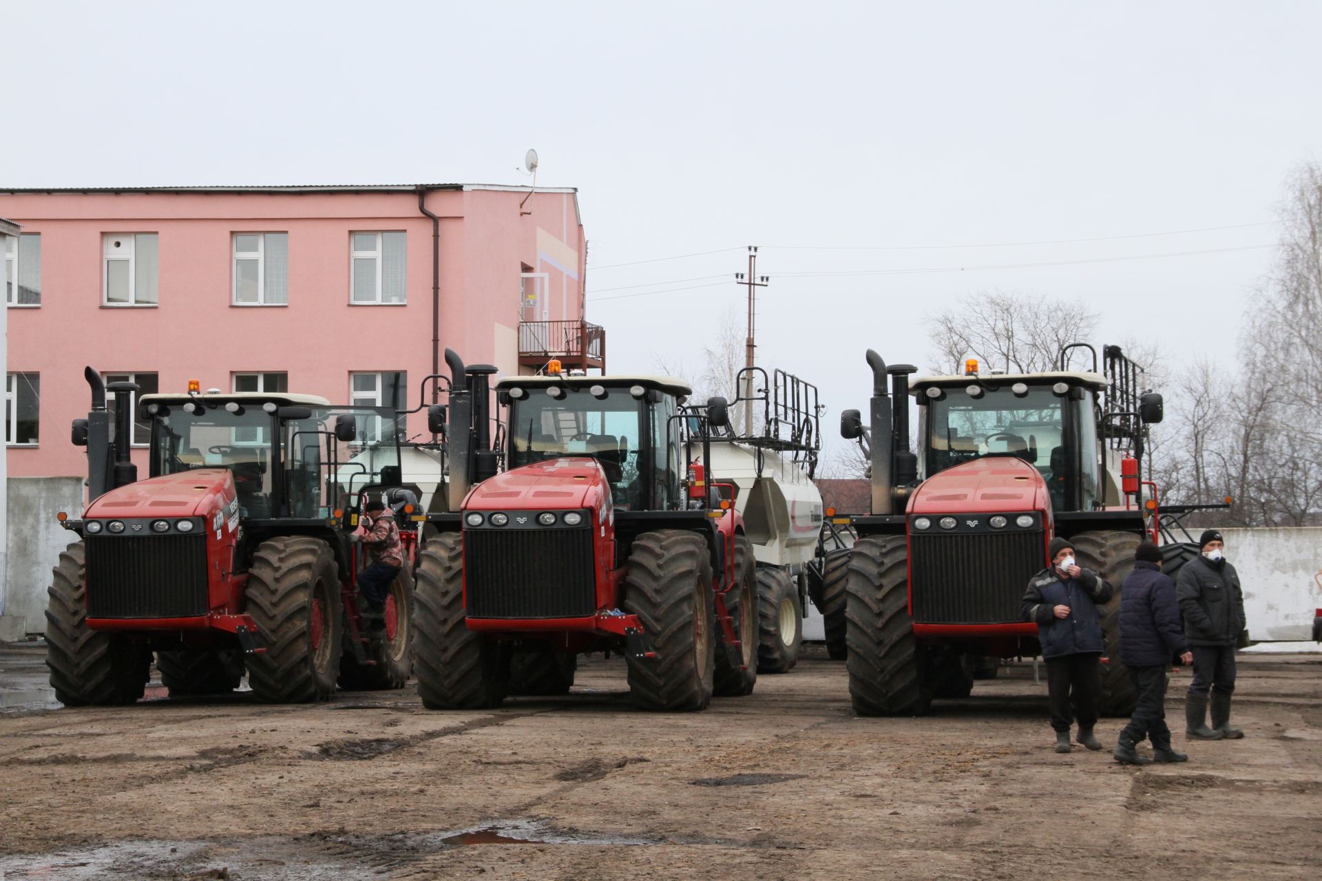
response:
<svg viewBox="0 0 1322 881"><path fill-rule="evenodd" d="M1149 761L1187 762L1188 756L1170 746L1166 726L1166 667L1173 655L1191 663L1179 623L1175 584L1161 572L1161 551L1142 542L1134 551L1134 571L1120 588L1120 660L1129 670L1138 703L1125 730L1120 732L1116 761L1146 765ZM1134 746L1151 738L1153 758L1140 756Z"/></svg>

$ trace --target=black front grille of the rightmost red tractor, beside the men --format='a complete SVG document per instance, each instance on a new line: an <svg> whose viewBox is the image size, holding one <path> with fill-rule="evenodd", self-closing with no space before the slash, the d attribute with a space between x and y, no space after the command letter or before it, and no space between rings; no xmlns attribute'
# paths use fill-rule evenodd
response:
<svg viewBox="0 0 1322 881"><path fill-rule="evenodd" d="M1040 530L910 534L910 596L919 623L1011 623L1046 565Z"/></svg>

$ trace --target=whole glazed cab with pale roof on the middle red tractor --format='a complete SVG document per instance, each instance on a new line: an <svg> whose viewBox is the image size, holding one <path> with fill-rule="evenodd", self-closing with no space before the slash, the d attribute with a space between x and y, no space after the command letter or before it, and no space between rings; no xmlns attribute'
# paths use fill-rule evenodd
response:
<svg viewBox="0 0 1322 881"><path fill-rule="evenodd" d="M496 384L508 404L510 469L590 457L620 511L682 507L683 450L677 413L693 390L666 376L510 376Z"/></svg>

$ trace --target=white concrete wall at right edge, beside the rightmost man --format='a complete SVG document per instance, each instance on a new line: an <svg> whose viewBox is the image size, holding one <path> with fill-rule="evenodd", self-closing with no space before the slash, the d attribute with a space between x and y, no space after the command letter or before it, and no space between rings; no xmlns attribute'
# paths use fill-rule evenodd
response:
<svg viewBox="0 0 1322 881"><path fill-rule="evenodd" d="M1322 527L1222 530L1225 559L1244 585L1251 639L1313 638L1322 609Z"/></svg>

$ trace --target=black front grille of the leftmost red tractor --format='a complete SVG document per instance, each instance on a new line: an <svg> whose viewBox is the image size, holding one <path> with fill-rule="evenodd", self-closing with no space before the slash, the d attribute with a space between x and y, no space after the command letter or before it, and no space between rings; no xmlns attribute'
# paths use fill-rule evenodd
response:
<svg viewBox="0 0 1322 881"><path fill-rule="evenodd" d="M210 608L205 535L86 536L87 616L186 618Z"/></svg>

